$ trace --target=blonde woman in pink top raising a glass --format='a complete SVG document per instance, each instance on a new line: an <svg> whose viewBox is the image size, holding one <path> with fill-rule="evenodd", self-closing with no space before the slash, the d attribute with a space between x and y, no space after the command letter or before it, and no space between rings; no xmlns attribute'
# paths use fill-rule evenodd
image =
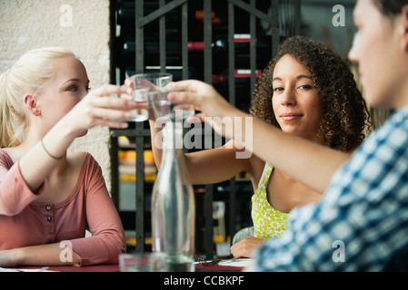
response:
<svg viewBox="0 0 408 290"><path fill-rule="evenodd" d="M62 48L27 52L0 77L0 266L117 263L125 251L101 168L66 151L92 127L124 128L113 120L129 119L134 104L104 97L129 89L88 85Z"/></svg>

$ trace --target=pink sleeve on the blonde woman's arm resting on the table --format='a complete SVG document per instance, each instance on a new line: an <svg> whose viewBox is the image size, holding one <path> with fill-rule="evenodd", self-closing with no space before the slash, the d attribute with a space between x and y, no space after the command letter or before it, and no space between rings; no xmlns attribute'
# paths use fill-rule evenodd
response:
<svg viewBox="0 0 408 290"><path fill-rule="evenodd" d="M85 173L86 222L92 237L71 240L80 266L116 264L126 250L124 228L105 186L102 170L91 157Z"/></svg>

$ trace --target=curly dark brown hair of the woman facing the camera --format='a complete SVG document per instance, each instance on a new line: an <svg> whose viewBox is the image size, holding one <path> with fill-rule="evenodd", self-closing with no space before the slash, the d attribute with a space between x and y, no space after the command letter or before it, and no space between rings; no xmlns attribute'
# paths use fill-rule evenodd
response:
<svg viewBox="0 0 408 290"><path fill-rule="evenodd" d="M277 56L255 84L250 113L280 128L272 106L272 79L276 63L285 54L304 65L322 98L323 116L318 135L323 136L324 144L344 152L357 148L365 138L369 113L353 73L340 55L304 36L287 38L280 45Z"/></svg>

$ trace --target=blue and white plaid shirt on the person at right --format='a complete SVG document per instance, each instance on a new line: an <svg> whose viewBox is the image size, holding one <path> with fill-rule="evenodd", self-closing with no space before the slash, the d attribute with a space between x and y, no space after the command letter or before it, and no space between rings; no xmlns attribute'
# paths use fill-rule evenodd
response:
<svg viewBox="0 0 408 290"><path fill-rule="evenodd" d="M399 256L408 247L408 106L355 150L318 204L294 208L288 226L251 270L382 271Z"/></svg>

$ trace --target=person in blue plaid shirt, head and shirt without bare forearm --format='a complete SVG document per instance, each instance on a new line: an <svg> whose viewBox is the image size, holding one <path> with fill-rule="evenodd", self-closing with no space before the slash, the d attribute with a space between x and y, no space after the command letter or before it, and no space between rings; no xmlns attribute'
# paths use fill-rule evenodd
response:
<svg viewBox="0 0 408 290"><path fill-rule="evenodd" d="M359 0L353 18L349 58L367 101L395 112L334 174L321 202L296 208L291 230L259 249L254 271L408 269L408 1Z"/></svg>

